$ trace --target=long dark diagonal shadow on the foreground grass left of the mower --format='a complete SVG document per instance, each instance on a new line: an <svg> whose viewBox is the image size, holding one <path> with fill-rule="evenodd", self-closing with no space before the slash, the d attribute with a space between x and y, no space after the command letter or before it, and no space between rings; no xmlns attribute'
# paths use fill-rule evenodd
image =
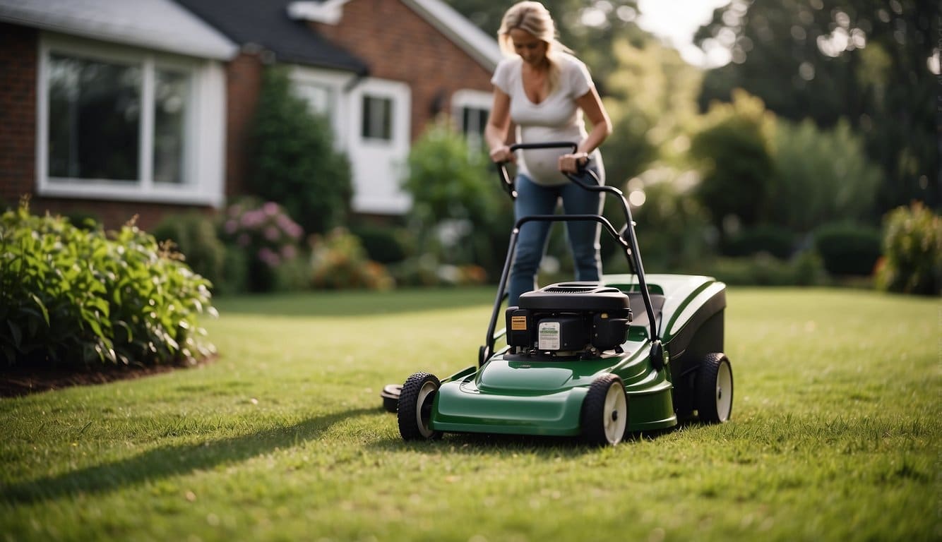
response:
<svg viewBox="0 0 942 542"><path fill-rule="evenodd" d="M11 486L0 486L0 502L28 504L69 495L104 493L143 482L156 482L195 470L212 469L218 465L266 454L276 448L296 446L300 442L317 438L335 423L379 412L378 408L357 408L293 425L268 428L252 435L200 444L162 446L105 465L63 472Z"/></svg>

